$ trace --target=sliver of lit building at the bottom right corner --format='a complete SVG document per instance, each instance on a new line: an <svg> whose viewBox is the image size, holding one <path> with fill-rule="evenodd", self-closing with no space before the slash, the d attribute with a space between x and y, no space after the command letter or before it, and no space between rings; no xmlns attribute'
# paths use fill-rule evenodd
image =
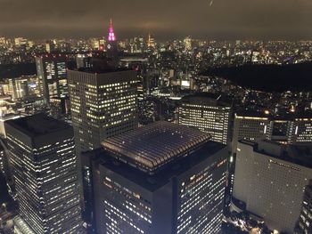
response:
<svg viewBox="0 0 312 234"><path fill-rule="evenodd" d="M295 234L311 234L312 233L312 181L306 186L303 195L302 207L299 220L296 224Z"/></svg>

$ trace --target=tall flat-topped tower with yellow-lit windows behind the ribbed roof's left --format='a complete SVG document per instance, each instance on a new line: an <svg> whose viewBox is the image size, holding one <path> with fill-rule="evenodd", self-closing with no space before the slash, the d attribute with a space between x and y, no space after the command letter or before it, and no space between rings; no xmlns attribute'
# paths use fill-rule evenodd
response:
<svg viewBox="0 0 312 234"><path fill-rule="evenodd" d="M69 70L72 125L78 154L133 130L137 120L135 71Z"/></svg>

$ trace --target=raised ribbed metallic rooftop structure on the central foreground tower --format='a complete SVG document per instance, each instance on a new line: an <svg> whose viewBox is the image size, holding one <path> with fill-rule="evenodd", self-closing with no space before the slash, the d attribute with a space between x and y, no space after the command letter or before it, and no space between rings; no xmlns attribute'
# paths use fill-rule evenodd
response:
<svg viewBox="0 0 312 234"><path fill-rule="evenodd" d="M113 157L144 171L155 171L209 141L208 133L183 125L156 122L102 142Z"/></svg>

